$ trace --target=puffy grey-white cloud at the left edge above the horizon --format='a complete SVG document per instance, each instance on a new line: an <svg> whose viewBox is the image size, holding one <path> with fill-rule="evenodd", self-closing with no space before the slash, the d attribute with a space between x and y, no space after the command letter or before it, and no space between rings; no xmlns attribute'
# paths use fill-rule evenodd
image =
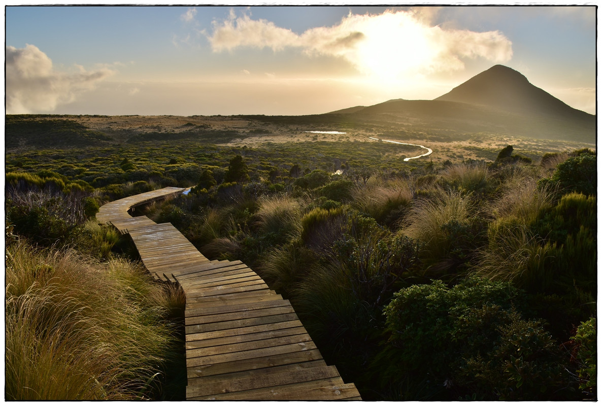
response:
<svg viewBox="0 0 602 406"><path fill-rule="evenodd" d="M49 112L73 102L78 94L92 90L114 73L107 67L63 73L52 69L52 61L34 45L6 47L6 107L8 114Z"/></svg>

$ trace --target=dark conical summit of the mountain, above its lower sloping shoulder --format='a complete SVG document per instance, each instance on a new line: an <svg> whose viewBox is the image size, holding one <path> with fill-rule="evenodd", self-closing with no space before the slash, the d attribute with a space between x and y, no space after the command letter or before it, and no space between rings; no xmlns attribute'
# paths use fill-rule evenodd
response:
<svg viewBox="0 0 602 406"><path fill-rule="evenodd" d="M503 65L479 73L435 100L470 103L521 114L546 114L569 119L592 116L572 108L527 78Z"/></svg>

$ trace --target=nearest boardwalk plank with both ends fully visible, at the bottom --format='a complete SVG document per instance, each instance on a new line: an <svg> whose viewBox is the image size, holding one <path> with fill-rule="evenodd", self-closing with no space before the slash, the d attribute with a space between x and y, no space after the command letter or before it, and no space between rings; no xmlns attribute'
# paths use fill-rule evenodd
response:
<svg viewBox="0 0 602 406"><path fill-rule="evenodd" d="M217 395L225 392L315 381L338 376L339 373L334 366L305 369L303 364L290 364L263 370L235 372L219 377L189 379L186 396ZM194 384L194 386L191 386L191 384Z"/></svg>

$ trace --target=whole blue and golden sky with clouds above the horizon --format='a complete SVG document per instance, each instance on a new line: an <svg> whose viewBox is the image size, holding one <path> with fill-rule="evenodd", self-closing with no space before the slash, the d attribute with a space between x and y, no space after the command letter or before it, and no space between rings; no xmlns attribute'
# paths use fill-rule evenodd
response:
<svg viewBox="0 0 602 406"><path fill-rule="evenodd" d="M593 5L7 5L6 112L321 114L503 64L595 114L596 29Z"/></svg>

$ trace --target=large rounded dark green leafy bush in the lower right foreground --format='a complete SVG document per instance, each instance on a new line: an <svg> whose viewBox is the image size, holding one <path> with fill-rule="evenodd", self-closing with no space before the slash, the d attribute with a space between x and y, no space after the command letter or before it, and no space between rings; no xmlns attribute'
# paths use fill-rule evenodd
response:
<svg viewBox="0 0 602 406"><path fill-rule="evenodd" d="M539 322L522 318L519 299L509 283L477 277L397 292L384 312L388 344L375 361L388 360L383 383L426 385L430 399L562 398L557 345Z"/></svg>

